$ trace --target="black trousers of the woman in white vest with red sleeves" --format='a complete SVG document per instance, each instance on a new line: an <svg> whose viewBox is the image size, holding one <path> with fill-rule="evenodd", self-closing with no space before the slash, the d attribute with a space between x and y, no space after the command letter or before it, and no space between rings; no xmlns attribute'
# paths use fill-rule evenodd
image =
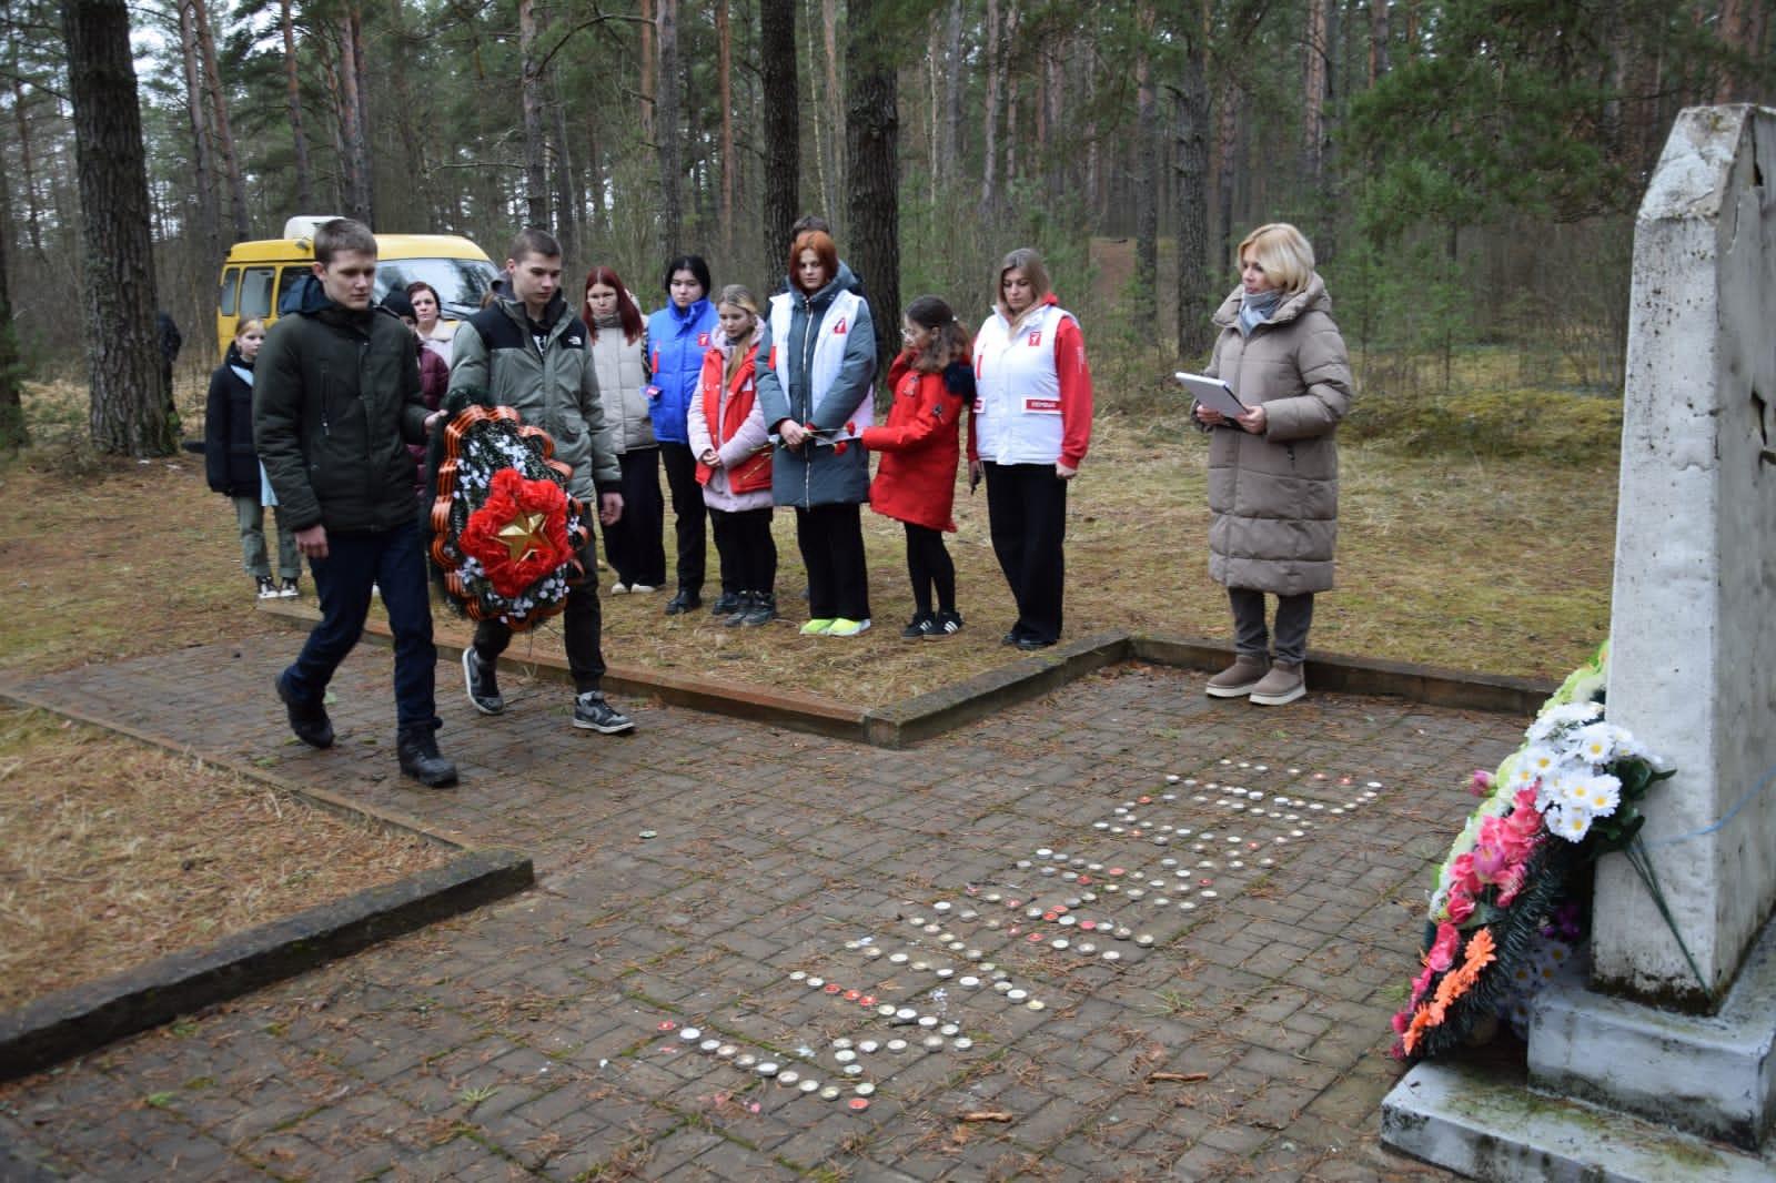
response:
<svg viewBox="0 0 1776 1183"><path fill-rule="evenodd" d="M1018 602L1018 638L1060 639L1066 584L1067 481L1053 464L986 464L987 529Z"/></svg>

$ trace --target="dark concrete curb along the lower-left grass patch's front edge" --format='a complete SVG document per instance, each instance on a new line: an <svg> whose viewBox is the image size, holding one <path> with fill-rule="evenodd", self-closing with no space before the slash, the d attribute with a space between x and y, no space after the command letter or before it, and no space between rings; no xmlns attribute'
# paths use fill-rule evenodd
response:
<svg viewBox="0 0 1776 1183"><path fill-rule="evenodd" d="M295 977L318 965L522 892L531 860L467 851L442 867L85 982L0 1014L0 1080L158 1027L179 1014Z"/></svg>

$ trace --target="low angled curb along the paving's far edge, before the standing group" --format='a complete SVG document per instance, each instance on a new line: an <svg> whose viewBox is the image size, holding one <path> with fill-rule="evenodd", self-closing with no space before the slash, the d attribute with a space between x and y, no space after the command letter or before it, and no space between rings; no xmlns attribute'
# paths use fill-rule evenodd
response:
<svg viewBox="0 0 1776 1183"><path fill-rule="evenodd" d="M266 600L261 613L291 625L320 620L305 602ZM364 636L391 643L387 625L371 620ZM440 643L440 654L458 657L462 647ZM1130 634L1121 629L1096 632L1055 648L987 670L954 686L883 707L860 707L817 695L785 693L748 682L664 673L638 666L611 666L606 686L623 695L654 696L675 707L753 719L831 739L849 739L876 748L909 748L952 728L1057 691L1062 686L1121 661L1146 661L1183 670L1220 670L1233 661L1233 645L1165 632ZM567 661L538 654L529 663L538 673L565 680ZM1341 654L1312 654L1307 684L1339 695L1389 695L1433 707L1492 711L1531 716L1554 693L1554 682L1463 673L1403 661L1371 661Z"/></svg>

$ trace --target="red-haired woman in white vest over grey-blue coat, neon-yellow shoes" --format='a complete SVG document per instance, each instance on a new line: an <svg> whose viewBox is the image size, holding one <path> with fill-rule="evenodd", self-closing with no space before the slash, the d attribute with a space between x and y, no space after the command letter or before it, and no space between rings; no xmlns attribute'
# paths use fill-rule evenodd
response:
<svg viewBox="0 0 1776 1183"><path fill-rule="evenodd" d="M771 297L758 337L758 401L778 446L771 496L796 506L796 544L808 568L803 636L856 636L870 627L870 572L858 506L870 496L876 327L851 290L831 236L808 231L789 252L789 291Z"/></svg>

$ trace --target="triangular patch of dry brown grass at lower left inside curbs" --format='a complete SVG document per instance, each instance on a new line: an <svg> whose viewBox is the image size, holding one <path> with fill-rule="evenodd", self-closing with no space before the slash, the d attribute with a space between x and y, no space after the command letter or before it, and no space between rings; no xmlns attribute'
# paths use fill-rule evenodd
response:
<svg viewBox="0 0 1776 1183"><path fill-rule="evenodd" d="M444 858L197 760L0 709L0 1011Z"/></svg>

